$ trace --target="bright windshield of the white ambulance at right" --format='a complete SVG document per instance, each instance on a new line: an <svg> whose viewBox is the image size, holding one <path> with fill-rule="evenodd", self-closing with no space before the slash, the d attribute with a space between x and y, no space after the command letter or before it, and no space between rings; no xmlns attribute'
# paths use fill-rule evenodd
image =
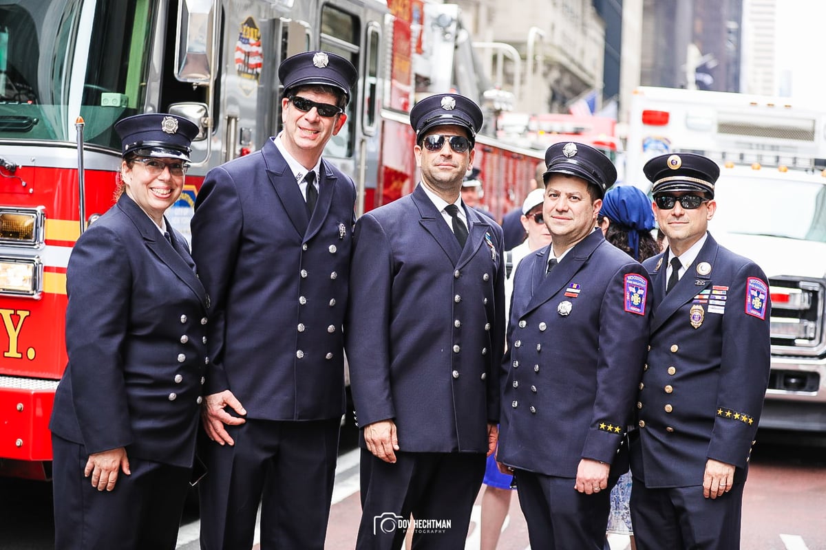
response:
<svg viewBox="0 0 826 550"><path fill-rule="evenodd" d="M826 242L826 179L720 176L712 232ZM823 178L820 178L823 179Z"/></svg>

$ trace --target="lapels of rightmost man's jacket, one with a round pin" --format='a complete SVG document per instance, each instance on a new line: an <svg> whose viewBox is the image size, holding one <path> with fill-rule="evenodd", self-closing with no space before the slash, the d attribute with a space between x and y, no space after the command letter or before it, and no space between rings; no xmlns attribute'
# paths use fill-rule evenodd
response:
<svg viewBox="0 0 826 550"><path fill-rule="evenodd" d="M705 244L700 249L700 253L695 260L691 262L691 266L686 268L686 273L677 281L674 288L668 294L665 294L665 286L662 280L665 279L666 262L668 261L667 254L663 255L662 265L657 273L657 282L655 283L655 293L662 293L662 300L654 308L654 315L651 321L651 331L656 331L662 326L669 317L686 303L690 302L694 297L700 293L701 290L707 288L711 284L711 274L714 272L714 261L717 258L718 245L714 238L709 235L705 239ZM700 273L697 266L700 264L708 264L710 269L707 273ZM661 284L663 284L661 286ZM654 294L655 299L657 294ZM688 319L686 318L686 322Z"/></svg>

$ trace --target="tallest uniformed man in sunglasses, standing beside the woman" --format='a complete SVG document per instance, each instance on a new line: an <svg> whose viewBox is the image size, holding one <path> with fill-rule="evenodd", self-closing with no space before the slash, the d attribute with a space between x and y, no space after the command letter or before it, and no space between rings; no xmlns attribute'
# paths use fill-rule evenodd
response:
<svg viewBox="0 0 826 550"><path fill-rule="evenodd" d="M324 548L344 412L353 181L321 153L357 74L306 52L278 68L283 129L212 169L192 219L212 299L201 548Z"/></svg>

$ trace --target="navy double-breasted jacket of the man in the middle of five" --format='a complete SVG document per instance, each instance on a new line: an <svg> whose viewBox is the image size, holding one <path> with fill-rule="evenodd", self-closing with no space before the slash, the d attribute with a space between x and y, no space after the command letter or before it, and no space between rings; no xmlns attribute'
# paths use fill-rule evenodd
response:
<svg viewBox="0 0 826 550"><path fill-rule="evenodd" d="M505 341L502 230L465 208L459 247L421 185L356 223L347 355L357 421L392 419L406 452L486 453Z"/></svg>

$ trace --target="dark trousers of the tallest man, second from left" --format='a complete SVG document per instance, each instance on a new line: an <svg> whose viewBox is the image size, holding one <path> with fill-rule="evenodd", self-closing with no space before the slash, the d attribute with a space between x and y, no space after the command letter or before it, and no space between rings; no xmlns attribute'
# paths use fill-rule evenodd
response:
<svg viewBox="0 0 826 550"><path fill-rule="evenodd" d="M202 439L203 550L249 550L261 505L261 550L323 550L339 449L339 418L227 425L235 445Z"/></svg>

